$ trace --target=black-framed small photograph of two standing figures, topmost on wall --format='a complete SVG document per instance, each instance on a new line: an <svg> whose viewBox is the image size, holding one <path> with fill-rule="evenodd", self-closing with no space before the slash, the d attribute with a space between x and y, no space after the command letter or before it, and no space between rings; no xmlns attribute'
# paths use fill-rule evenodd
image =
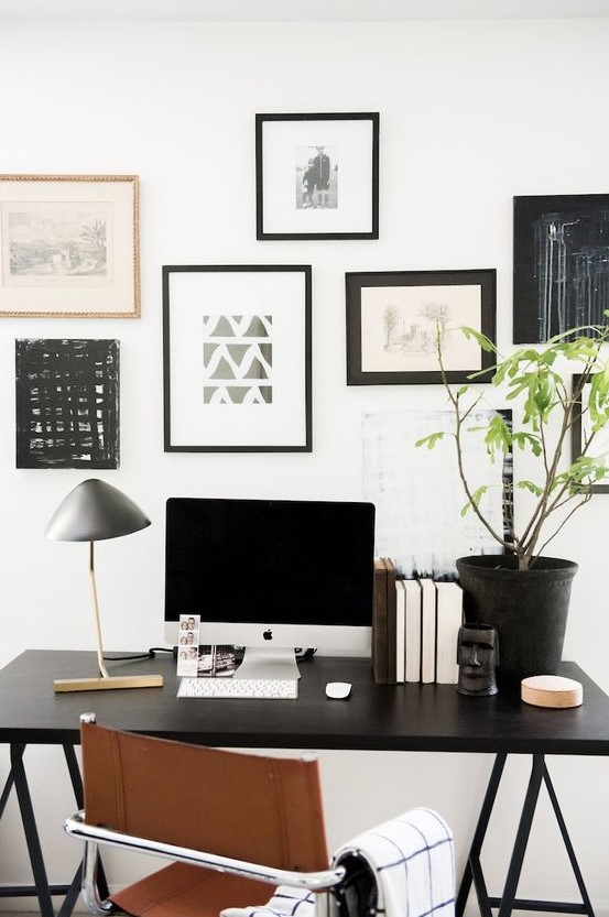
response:
<svg viewBox="0 0 609 917"><path fill-rule="evenodd" d="M379 238L379 113L255 116L257 239Z"/></svg>

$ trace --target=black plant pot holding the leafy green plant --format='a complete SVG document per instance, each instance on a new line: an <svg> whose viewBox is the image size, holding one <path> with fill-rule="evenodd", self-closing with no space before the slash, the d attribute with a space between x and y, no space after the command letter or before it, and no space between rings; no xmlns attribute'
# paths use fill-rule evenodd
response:
<svg viewBox="0 0 609 917"><path fill-rule="evenodd" d="M577 564L539 557L519 570L512 555L460 557L465 620L497 629L498 681L514 686L531 675L556 675L563 657L570 586Z"/></svg>

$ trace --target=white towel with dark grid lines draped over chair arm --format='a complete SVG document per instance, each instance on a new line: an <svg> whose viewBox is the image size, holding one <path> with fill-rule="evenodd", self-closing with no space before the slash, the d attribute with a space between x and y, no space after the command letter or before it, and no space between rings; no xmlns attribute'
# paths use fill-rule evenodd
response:
<svg viewBox="0 0 609 917"><path fill-rule="evenodd" d="M412 809L354 838L334 863L356 854L377 880L377 914L384 917L454 917L453 834L433 809Z"/></svg>

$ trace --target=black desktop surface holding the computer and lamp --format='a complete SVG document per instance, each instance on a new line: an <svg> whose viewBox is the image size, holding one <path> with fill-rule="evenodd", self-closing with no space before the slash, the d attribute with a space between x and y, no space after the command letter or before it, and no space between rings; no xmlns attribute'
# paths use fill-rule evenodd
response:
<svg viewBox="0 0 609 917"><path fill-rule="evenodd" d="M54 678L96 674L95 653L22 653L0 670L0 742L76 744L78 717L93 710L106 725L206 745L609 754L609 697L575 663L561 674L583 684L584 703L566 710L531 707L518 692L472 698L452 685L377 685L368 659L302 663L297 700L178 699L175 662L165 655L108 669L159 673L165 684L56 695ZM351 697L327 700L330 680L351 681Z"/></svg>

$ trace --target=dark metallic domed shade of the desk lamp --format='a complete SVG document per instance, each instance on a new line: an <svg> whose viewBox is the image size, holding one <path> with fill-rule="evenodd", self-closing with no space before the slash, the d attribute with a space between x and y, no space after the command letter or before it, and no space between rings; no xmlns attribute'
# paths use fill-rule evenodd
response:
<svg viewBox="0 0 609 917"><path fill-rule="evenodd" d="M45 535L56 542L101 542L150 525L150 520L118 488L89 478L59 503Z"/></svg>

